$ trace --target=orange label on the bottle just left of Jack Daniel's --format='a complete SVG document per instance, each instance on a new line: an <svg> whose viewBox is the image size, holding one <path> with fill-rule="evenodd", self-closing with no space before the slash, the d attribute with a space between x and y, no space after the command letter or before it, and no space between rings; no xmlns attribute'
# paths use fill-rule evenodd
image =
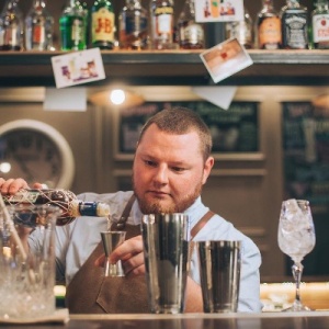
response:
<svg viewBox="0 0 329 329"><path fill-rule="evenodd" d="M268 44L281 44L281 20L280 18L265 18L258 30L259 48L266 48Z"/></svg>

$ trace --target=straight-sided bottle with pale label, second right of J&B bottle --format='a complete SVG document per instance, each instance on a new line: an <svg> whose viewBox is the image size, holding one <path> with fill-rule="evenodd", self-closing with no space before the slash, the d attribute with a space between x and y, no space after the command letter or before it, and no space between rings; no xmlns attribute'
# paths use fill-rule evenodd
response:
<svg viewBox="0 0 329 329"><path fill-rule="evenodd" d="M173 43L173 0L151 0L150 24L154 49L175 48Z"/></svg>

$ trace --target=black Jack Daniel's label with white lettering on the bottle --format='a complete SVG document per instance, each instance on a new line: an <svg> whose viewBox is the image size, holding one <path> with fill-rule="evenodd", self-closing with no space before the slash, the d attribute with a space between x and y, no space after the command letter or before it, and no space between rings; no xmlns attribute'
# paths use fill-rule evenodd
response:
<svg viewBox="0 0 329 329"><path fill-rule="evenodd" d="M285 13L283 23L283 46L292 49L305 49L307 38L307 13Z"/></svg>

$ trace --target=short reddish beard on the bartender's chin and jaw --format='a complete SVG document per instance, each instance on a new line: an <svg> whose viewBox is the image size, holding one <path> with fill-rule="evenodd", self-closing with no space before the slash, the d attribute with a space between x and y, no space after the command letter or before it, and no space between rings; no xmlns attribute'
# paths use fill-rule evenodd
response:
<svg viewBox="0 0 329 329"><path fill-rule="evenodd" d="M183 213L186 211L200 196L202 192L203 184L198 182L195 185L193 192L186 195L179 195L175 200L171 200L170 203L163 202L162 200L152 198L149 201L145 194L138 193L138 190L135 186L134 175L133 175L133 186L134 193L139 204L139 208L144 215L149 214L173 214L173 213Z"/></svg>

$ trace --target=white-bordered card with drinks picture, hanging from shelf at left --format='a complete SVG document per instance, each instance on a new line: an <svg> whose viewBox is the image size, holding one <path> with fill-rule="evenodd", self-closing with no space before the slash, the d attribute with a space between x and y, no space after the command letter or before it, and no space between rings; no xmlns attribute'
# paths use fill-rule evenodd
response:
<svg viewBox="0 0 329 329"><path fill-rule="evenodd" d="M57 88L105 79L100 48L54 56L52 65Z"/></svg>

